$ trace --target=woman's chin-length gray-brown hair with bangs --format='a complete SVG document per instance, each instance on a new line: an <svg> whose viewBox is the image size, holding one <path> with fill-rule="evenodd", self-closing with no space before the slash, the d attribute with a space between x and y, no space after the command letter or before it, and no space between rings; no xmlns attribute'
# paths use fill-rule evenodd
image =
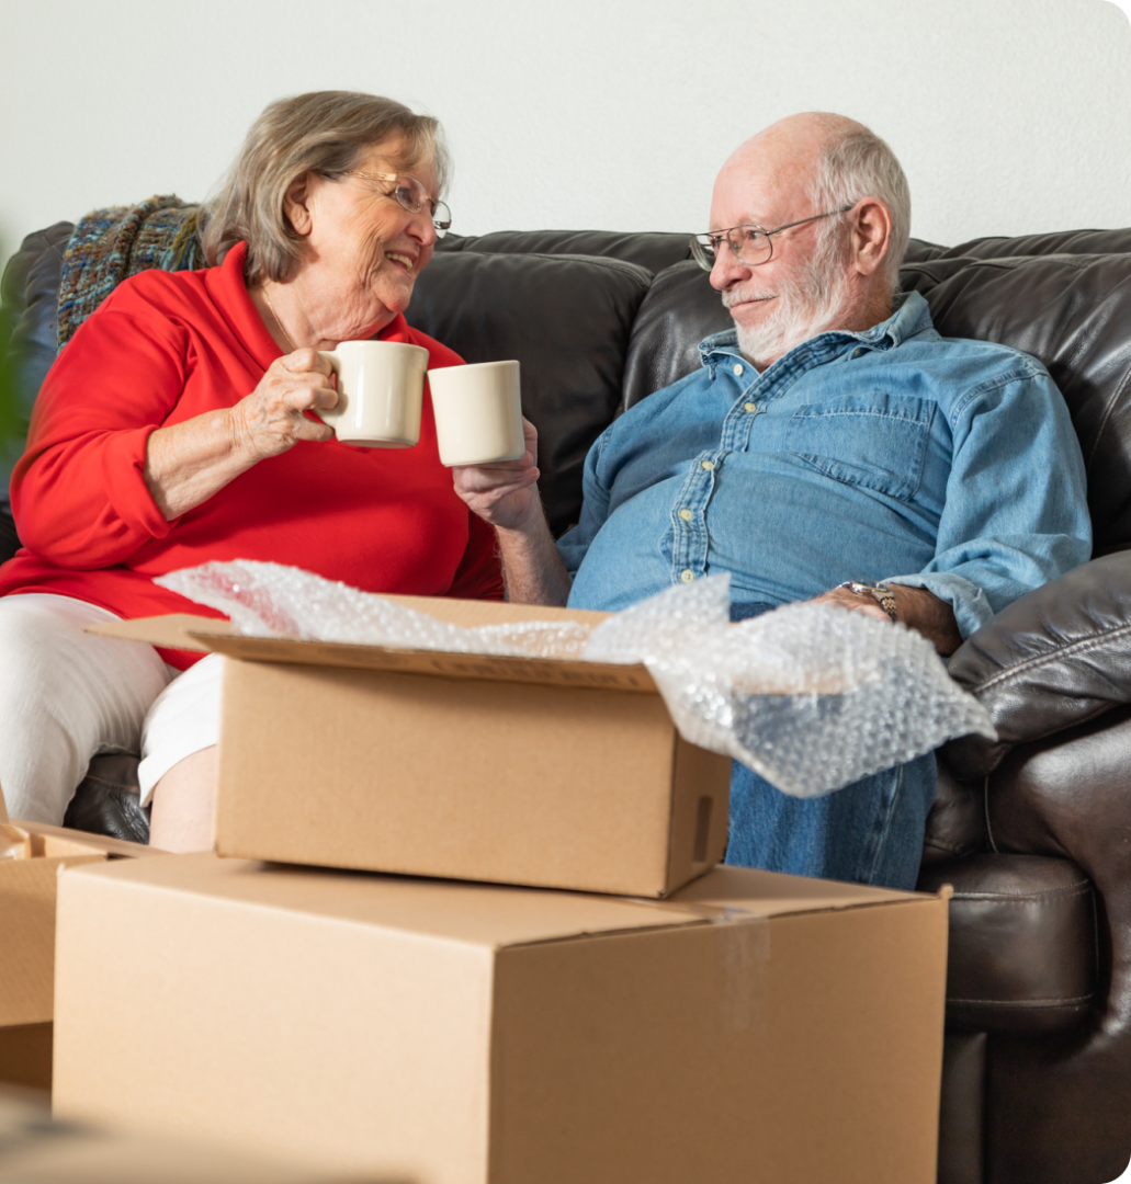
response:
<svg viewBox="0 0 1131 1184"><path fill-rule="evenodd" d="M366 149L387 146L398 169L435 163L443 193L450 172L439 121L403 103L351 90L317 90L271 103L201 210L200 244L210 264L246 240L248 283L288 279L302 242L283 202L303 173L339 178Z"/></svg>

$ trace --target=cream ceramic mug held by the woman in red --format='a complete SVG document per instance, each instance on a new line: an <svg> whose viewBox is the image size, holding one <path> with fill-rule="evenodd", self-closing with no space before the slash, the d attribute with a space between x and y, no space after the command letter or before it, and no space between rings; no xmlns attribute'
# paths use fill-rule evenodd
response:
<svg viewBox="0 0 1131 1184"><path fill-rule="evenodd" d="M420 439L428 350L400 341L342 341L322 352L338 375L338 404L317 416L342 444L412 448Z"/></svg>

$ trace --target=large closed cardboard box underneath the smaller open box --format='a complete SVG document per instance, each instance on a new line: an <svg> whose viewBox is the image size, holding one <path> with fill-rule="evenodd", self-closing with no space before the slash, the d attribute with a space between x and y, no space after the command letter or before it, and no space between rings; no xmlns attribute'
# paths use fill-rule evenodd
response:
<svg viewBox="0 0 1131 1184"><path fill-rule="evenodd" d="M945 965L943 897L738 868L76 868L56 1113L415 1184L933 1184Z"/></svg>

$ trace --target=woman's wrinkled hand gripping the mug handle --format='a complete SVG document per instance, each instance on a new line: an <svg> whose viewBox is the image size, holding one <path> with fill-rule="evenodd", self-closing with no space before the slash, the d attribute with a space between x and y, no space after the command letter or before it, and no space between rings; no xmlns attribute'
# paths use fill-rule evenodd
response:
<svg viewBox="0 0 1131 1184"><path fill-rule="evenodd" d="M304 412L333 407L338 380L316 349L296 349L277 358L259 385L232 407L237 445L253 461L278 456L298 440L328 440L334 429Z"/></svg>

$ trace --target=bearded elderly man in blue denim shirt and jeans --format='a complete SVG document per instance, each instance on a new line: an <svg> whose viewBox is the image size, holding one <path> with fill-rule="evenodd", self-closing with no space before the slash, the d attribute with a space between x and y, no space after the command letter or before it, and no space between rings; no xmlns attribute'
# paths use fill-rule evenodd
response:
<svg viewBox="0 0 1131 1184"><path fill-rule="evenodd" d="M1087 560L1060 393L895 295L910 215L899 161L859 123L798 115L744 143L693 240L734 328L597 440L578 526L557 545L546 528L532 429L523 461L457 471L509 598L618 610L725 571L734 619L817 599L947 655ZM934 787L931 754L805 800L735 765L727 861L911 888Z"/></svg>

